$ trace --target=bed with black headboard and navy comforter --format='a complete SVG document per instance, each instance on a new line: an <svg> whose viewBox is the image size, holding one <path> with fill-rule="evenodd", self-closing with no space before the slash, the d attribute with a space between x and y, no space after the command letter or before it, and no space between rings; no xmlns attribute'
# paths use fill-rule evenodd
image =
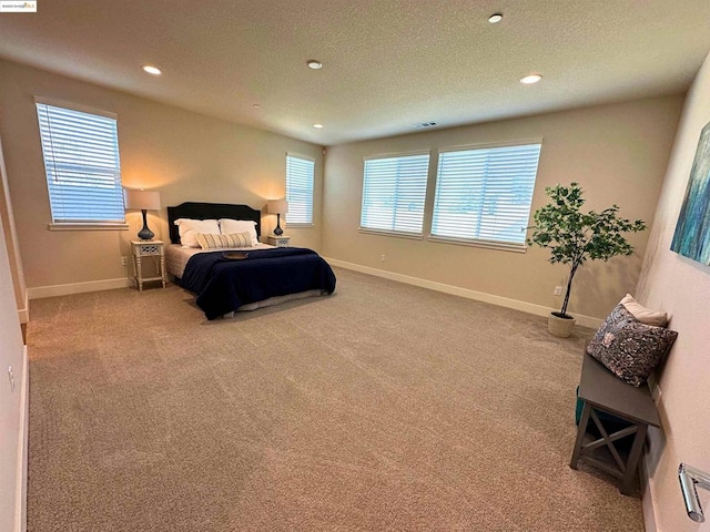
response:
<svg viewBox="0 0 710 532"><path fill-rule="evenodd" d="M239 248L184 247L175 225L184 218L252 222L258 237L261 211L247 205L196 202L168 207L168 273L196 295L195 303L207 319L335 291L333 269L312 249L274 247L256 241Z"/></svg>

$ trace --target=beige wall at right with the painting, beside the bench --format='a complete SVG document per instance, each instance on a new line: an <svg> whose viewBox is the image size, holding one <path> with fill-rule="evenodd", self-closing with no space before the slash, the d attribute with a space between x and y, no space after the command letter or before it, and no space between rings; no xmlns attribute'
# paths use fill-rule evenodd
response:
<svg viewBox="0 0 710 532"><path fill-rule="evenodd" d="M640 300L669 313L669 327L678 331L660 379L663 431L651 431L647 459L651 498L645 505L648 510L652 501L659 531L710 531L710 492L698 490L707 519L698 525L686 516L678 484L682 461L710 473L710 266L670 250L700 131L708 122L710 55L688 94L638 288Z"/></svg>

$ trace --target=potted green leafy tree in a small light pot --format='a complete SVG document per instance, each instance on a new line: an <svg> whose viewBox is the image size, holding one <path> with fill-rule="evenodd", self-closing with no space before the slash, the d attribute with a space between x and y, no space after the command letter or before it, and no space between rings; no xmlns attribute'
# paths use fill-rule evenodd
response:
<svg viewBox="0 0 710 532"><path fill-rule="evenodd" d="M546 187L545 194L551 201L532 215L535 225L530 227L532 233L527 241L528 245L547 247L550 263L569 265L562 308L559 313L551 313L548 320L550 334L562 338L567 338L575 326L575 318L567 314L567 304L577 268L588 259L609 260L617 255L631 255L633 247L623 234L646 228L641 219L631 222L619 217L617 205L600 213L582 213L582 193L578 183Z"/></svg>

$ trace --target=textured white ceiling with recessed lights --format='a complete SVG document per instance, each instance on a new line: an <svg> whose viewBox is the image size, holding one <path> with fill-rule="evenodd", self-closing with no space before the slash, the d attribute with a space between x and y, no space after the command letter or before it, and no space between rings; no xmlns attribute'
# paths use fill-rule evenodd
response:
<svg viewBox="0 0 710 532"><path fill-rule="evenodd" d="M708 21L708 0L38 0L0 13L0 57L333 145L681 92Z"/></svg>

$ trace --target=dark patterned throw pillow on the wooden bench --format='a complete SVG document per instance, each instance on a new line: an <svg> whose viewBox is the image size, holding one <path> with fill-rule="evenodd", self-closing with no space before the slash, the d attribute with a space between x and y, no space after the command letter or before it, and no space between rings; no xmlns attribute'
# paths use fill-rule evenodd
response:
<svg viewBox="0 0 710 532"><path fill-rule="evenodd" d="M620 379L639 387L677 336L674 330L642 324L619 304L595 334L587 352Z"/></svg>

